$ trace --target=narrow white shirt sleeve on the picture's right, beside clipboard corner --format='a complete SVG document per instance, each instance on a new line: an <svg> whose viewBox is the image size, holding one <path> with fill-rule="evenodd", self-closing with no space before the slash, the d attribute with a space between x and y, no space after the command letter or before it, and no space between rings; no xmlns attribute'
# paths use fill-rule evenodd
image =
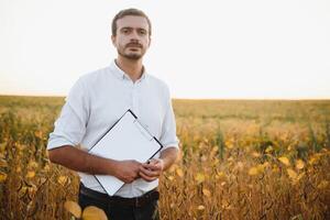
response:
<svg viewBox="0 0 330 220"><path fill-rule="evenodd" d="M163 144L164 151L168 147L176 147L178 148L179 140L176 135L176 123L175 123L175 116L172 107L172 100L169 96L169 91L167 89L166 92L166 111L165 111L164 121L162 124L162 134L160 138L160 142Z"/></svg>

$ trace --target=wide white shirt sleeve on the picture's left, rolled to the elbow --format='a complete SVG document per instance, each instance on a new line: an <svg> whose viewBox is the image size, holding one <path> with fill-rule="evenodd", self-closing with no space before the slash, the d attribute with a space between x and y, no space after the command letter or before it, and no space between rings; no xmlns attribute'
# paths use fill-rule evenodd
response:
<svg viewBox="0 0 330 220"><path fill-rule="evenodd" d="M47 150L63 145L78 145L85 133L89 118L88 97L81 78L70 89L54 131L50 134Z"/></svg>

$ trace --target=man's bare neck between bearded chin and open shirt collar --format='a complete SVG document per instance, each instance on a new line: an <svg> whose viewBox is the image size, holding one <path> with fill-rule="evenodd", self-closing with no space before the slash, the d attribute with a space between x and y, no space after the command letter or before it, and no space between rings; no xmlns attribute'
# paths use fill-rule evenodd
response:
<svg viewBox="0 0 330 220"><path fill-rule="evenodd" d="M116 64L121 70L123 70L127 75L129 75L129 77L132 79L133 82L135 82L142 76L142 72L143 72L142 58L132 61L119 56L116 59Z"/></svg>

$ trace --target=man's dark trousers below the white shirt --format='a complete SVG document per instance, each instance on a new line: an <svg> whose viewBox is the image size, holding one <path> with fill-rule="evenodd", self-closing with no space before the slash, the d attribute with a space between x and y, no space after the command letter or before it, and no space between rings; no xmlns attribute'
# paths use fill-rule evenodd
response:
<svg viewBox="0 0 330 220"><path fill-rule="evenodd" d="M100 194L100 193L99 193ZM78 204L84 210L88 206L96 206L102 209L109 220L158 220L158 201L151 200L143 206L131 206L116 202L107 202L102 199L97 199L95 196L81 194L79 190Z"/></svg>

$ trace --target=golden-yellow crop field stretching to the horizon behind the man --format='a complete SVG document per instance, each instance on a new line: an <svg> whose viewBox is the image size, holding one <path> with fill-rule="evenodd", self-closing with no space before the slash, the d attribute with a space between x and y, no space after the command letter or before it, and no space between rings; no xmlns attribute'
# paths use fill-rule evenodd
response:
<svg viewBox="0 0 330 220"><path fill-rule="evenodd" d="M64 98L0 97L0 219L74 219L78 176L46 144ZM162 219L330 219L330 100L174 100Z"/></svg>

